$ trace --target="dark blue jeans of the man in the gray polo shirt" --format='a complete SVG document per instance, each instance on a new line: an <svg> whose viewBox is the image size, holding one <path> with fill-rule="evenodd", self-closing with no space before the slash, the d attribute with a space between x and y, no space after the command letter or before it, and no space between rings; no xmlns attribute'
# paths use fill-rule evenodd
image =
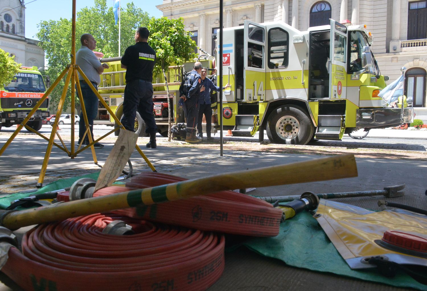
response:
<svg viewBox="0 0 427 291"><path fill-rule="evenodd" d="M95 90L98 90L98 86L96 83L92 83L92 85L94 85ZM99 99L85 81L80 81L80 87L82 88L83 102L85 104L86 115L88 116L88 122L89 122L89 125L91 126L90 132L93 139L94 138L94 119L97 117L97 114L98 114ZM77 93L77 96L78 95L79 93ZM79 140L82 140L83 135L85 134L85 131L86 131L85 119L83 118L83 112L81 112L80 121L79 121ZM86 136L85 139L88 140L88 137Z"/></svg>

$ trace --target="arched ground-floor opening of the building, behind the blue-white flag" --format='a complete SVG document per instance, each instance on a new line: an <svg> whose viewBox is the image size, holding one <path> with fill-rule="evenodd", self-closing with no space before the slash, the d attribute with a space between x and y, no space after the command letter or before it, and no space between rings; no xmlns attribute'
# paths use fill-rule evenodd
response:
<svg viewBox="0 0 427 291"><path fill-rule="evenodd" d="M406 71L406 96L412 97L413 107L426 106L426 71L421 68L412 68Z"/></svg>

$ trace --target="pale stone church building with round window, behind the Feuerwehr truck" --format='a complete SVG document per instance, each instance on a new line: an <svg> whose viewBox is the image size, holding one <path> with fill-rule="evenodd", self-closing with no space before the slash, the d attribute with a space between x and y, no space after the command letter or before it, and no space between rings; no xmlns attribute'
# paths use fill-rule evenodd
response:
<svg viewBox="0 0 427 291"><path fill-rule="evenodd" d="M27 67L44 67L44 50L39 41L25 37L23 0L0 0L0 48Z"/></svg>

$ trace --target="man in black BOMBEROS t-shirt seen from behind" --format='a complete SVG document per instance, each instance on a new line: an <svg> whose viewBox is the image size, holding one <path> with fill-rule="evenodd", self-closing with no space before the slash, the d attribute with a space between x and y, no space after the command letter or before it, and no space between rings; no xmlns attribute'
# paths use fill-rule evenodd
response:
<svg viewBox="0 0 427 291"><path fill-rule="evenodd" d="M156 53L148 41L149 31L140 27L135 32L135 43L126 49L122 57L122 68L126 69L126 87L123 100L123 126L134 131L138 110L146 124L145 132L150 134L147 148L156 148L157 125L153 116L153 68Z"/></svg>

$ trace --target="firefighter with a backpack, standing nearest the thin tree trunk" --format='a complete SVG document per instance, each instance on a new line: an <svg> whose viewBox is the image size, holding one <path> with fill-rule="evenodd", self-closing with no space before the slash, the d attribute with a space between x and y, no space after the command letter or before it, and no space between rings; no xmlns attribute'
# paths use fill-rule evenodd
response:
<svg viewBox="0 0 427 291"><path fill-rule="evenodd" d="M201 85L200 72L202 71L202 63L196 61L193 70L190 72L185 86L187 87L187 96L181 96L185 102L187 113L187 143L200 143L202 139L196 136L196 125L199 117L199 96L200 92L205 90L205 86Z"/></svg>

